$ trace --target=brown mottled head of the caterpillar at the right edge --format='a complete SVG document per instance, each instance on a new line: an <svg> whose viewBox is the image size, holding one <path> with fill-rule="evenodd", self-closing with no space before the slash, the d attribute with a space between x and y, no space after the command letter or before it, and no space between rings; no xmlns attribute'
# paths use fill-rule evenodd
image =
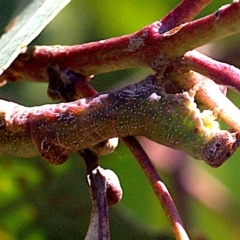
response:
<svg viewBox="0 0 240 240"><path fill-rule="evenodd" d="M219 167L237 150L240 134L221 131L204 147L203 160L211 167Z"/></svg>

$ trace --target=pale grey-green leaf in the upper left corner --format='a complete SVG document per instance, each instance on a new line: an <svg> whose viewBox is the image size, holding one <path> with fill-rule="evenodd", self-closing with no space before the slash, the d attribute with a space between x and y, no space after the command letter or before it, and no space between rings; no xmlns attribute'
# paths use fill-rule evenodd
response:
<svg viewBox="0 0 240 240"><path fill-rule="evenodd" d="M23 0L0 39L0 74L70 0Z"/></svg>

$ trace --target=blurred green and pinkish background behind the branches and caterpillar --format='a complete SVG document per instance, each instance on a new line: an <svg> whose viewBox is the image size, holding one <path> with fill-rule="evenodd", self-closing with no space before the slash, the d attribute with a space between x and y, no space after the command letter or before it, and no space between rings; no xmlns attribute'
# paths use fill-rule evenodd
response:
<svg viewBox="0 0 240 240"><path fill-rule="evenodd" d="M72 0L32 43L72 45L128 34L163 17L180 1ZM0 1L3 32L18 0ZM213 1L200 16L230 1ZM201 49L240 67L239 35ZM95 76L98 91L143 79L150 70ZM43 83L7 83L0 98L27 106L51 103ZM229 97L240 106L240 98ZM240 152L219 169L183 153L141 140L178 206L191 239L240 238ZM164 152L163 152L164 151ZM164 156L164 159L162 159ZM110 209L112 239L173 239L171 228L146 178L120 144L101 165L119 176L124 196ZM78 155L61 166L39 158L0 156L0 239L83 239L91 212L85 168Z"/></svg>

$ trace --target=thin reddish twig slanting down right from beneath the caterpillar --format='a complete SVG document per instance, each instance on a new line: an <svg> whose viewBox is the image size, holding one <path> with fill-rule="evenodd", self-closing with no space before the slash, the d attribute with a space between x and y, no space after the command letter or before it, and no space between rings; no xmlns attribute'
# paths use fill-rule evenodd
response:
<svg viewBox="0 0 240 240"><path fill-rule="evenodd" d="M165 211L168 220L171 223L174 235L178 240L187 240L188 235L184 229L181 217L176 209L176 206L161 178L159 177L156 169L154 168L151 160L148 158L142 146L134 137L123 138L124 143L128 146L137 162L145 173L150 185L152 186L159 202Z"/></svg>

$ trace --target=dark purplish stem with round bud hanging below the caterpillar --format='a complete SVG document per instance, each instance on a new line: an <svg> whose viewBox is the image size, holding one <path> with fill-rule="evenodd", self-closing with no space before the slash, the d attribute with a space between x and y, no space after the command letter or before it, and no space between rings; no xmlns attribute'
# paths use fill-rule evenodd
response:
<svg viewBox="0 0 240 240"><path fill-rule="evenodd" d="M108 207L122 198L122 188L117 175L98 166L98 157L91 150L80 151L87 167L87 179L92 198L92 213L85 240L110 239Z"/></svg>

